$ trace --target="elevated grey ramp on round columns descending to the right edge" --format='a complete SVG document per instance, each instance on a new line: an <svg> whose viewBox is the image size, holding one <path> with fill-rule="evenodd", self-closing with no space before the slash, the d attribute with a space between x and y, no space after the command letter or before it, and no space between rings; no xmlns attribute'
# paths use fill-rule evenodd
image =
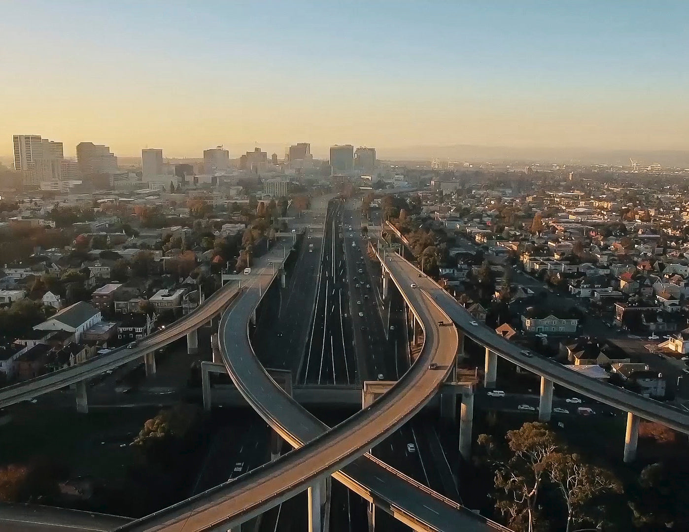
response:
<svg viewBox="0 0 689 532"><path fill-rule="evenodd" d="M386 266L393 278L398 275L408 277L412 272L420 275L418 268L401 258L386 263ZM426 278L425 275L424 278ZM495 352L500 357L596 401L689 434L689 413L666 403L597 381L579 372L574 372L551 359L537 356L527 357L522 353L523 348L500 336L493 329L482 323L472 325L472 322L476 323L475 319L445 290L434 290L429 293L431 293L433 301L451 317L466 337Z"/></svg>

